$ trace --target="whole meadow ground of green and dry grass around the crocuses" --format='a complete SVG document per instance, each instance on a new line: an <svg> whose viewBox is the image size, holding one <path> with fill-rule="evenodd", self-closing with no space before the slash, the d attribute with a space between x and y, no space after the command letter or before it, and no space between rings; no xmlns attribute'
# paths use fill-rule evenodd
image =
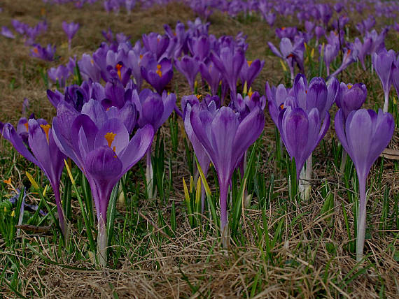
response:
<svg viewBox="0 0 399 299"><path fill-rule="evenodd" d="M2 122L16 124L25 97L30 102L29 113L50 120L55 109L48 102L41 73L65 63L72 55L79 58L84 52L94 52L104 41L102 29L110 27L137 41L144 33L163 33L163 24L174 28L178 20L184 23L195 20L194 13L179 3L133 11L131 15L125 12L113 15L107 14L99 3L78 10L69 5L46 6L42 1L36 2L33 6L22 0L2 1L0 26L10 27L13 18L33 25L45 15L49 28L39 41L42 45L56 44L60 58L51 63L39 61L29 56L29 48L21 39L0 38ZM80 23L70 52L61 29L63 20ZM222 13L214 13L209 22L209 33L216 36L244 32L249 44L247 57L265 60L254 90L264 94L266 81L273 85L285 82L279 59L267 47L267 41L278 43L274 29L267 23L256 15L232 19ZM294 20L278 18L275 26L293 25L297 25ZM355 30L351 22L349 31ZM398 50L398 37L398 32L390 31L386 48ZM363 71L355 64L339 75L339 80L365 82L368 91L365 106L382 105L381 83L370 71ZM190 94L185 78L177 72L169 90L176 92L179 99ZM336 108L332 110L333 115ZM202 219L203 226L190 226L183 203L182 177L186 181L190 177L183 125L181 119L172 119L160 133L165 143L165 186L162 186L166 195L152 200L145 198L144 163L127 174L126 199L117 205L109 268L105 272L96 270L91 255L87 254L82 215L76 194L72 194L71 238L66 244L53 227L47 233L21 231L13 242L0 237L1 296L398 298L398 161L379 159L369 175L366 258L356 263L356 226L353 223L356 175L351 163L345 175L339 173L340 158L337 158L333 126L314 152L309 200L293 202L288 200L286 171L281 168L281 161L274 159L274 124L268 112L265 112L265 119L265 131L255 153L256 171L251 173L252 182L248 186L254 194L252 205L243 208L229 249L221 248L220 237L209 219ZM178 129L177 135L171 127ZM398 149L398 145L396 127L389 147ZM25 161L6 140L0 140L0 153L0 196L3 200L13 195L10 184L3 180L10 179L14 187L25 184L29 188L25 170L34 174L41 185L46 184L38 168ZM66 174L63 176L66 182ZM215 173L209 175L211 189L217 196L215 178ZM38 194L33 188L28 190L29 203L38 203ZM51 197L52 192L48 191L47 196Z"/></svg>

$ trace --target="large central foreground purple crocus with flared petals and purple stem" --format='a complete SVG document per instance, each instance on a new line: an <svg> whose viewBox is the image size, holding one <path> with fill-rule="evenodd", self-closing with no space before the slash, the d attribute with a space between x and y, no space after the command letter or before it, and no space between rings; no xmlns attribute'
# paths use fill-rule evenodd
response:
<svg viewBox="0 0 399 299"><path fill-rule="evenodd" d="M228 247L228 186L244 152L263 131L263 111L256 108L240 122L239 115L229 107L214 110L194 105L190 122L195 136L207 151L218 173L222 242L224 247Z"/></svg>

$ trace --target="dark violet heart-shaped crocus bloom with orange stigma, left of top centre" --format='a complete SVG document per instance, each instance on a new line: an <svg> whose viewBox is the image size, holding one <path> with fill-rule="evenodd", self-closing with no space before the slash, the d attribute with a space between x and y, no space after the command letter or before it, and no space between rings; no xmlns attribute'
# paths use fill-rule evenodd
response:
<svg viewBox="0 0 399 299"><path fill-rule="evenodd" d="M141 66L141 75L155 88L158 94L162 94L165 86L173 77L172 62L167 58L162 59L160 63L151 59L146 66Z"/></svg>

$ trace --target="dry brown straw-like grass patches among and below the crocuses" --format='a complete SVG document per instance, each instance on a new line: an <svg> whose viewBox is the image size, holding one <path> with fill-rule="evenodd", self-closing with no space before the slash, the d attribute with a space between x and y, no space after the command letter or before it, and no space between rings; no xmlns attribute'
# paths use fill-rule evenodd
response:
<svg viewBox="0 0 399 299"><path fill-rule="evenodd" d="M50 108L45 96L45 88L41 80L38 68L44 69L56 66L67 61L69 54L76 54L78 57L83 52L93 52L101 41L103 41L101 30L111 27L114 32L124 32L132 37L133 41L140 38L141 34L150 31L162 32L163 24L174 27L177 20L186 22L193 20L195 15L181 4L172 3L165 8L155 7L144 11L135 11L132 15L120 13L120 15L108 15L97 3L94 6L86 7L83 10L76 10L71 6L45 6L37 1L34 6L27 1L6 0L2 1L3 13L1 13L0 26L10 27L10 20L17 18L29 24L36 24L41 17L41 8L45 7L46 17L50 24L48 32L38 38L42 45L55 43L57 54L61 55L60 61L45 64L29 57L29 49L23 45L20 39L15 41L6 40L0 37L0 115L1 121L12 121L20 117L20 109L24 97L31 100L29 112L35 112L39 117L50 119L55 110ZM66 37L61 30L61 22L74 21L80 23L80 30L73 38L73 48L68 53L65 46ZM264 91L265 81L273 84L283 81L279 59L267 55L267 41L276 43L274 30L269 29L265 22L253 20L243 24L237 20L221 13L215 13L210 19L210 32L220 36L230 34L235 36L239 31L248 35L248 57L265 59L265 68L260 77L254 83L254 89ZM294 24L293 20L277 20L277 26ZM395 38L395 36L389 36ZM351 68L353 70L353 68ZM363 73L358 68L356 73L344 74L344 81L354 81L356 78L364 78L375 88L372 93L376 99L382 99L381 87L375 76L370 73ZM14 88L10 88L14 80ZM172 82L173 87L178 86L179 95L188 94L189 89L183 76L176 73ZM382 101L382 100L381 100ZM367 105L372 105L371 101ZM162 129L166 136L166 145L170 147L169 130ZM262 173L268 180L271 173L276 174L276 186L274 192L278 194L276 202L286 196L286 180L283 179L281 170L276 170L274 164L269 162L268 149L274 147L274 126L272 120L267 117L264 149L262 149ZM395 133L398 136L397 132ZM326 136L327 140L330 137ZM258 281L259 289L255 298L379 298L379 287L384 284L384 296L386 298L398 298L399 296L399 265L389 255L389 245L399 250L398 234L399 228L393 228L390 232L378 230L378 223L381 217L380 190L371 189L370 197L375 199L372 203L367 220L372 224L371 239L366 240L366 251L370 254L369 261L372 263L364 273L354 278L348 285L345 276L356 267L356 261L349 254L347 245L351 240L346 233L346 224L342 214L341 204L343 203L348 219L353 219L352 204L349 203L344 193L344 187L340 182L338 170L325 171L325 163L331 162L331 156L324 157L323 165L315 165L315 175L312 198L307 203L295 207L289 206L288 212L281 215L276 202L271 203L267 210L267 226L274 228L275 224L283 219L283 230L281 231L281 242L272 248L272 254L276 263L265 259L265 235L260 236L254 230L255 225L263 230L262 212L252 207L246 210L243 221L243 233L247 239L246 246L232 245L225 251L221 249L218 238L214 233L203 237L197 230L190 228L181 205L183 188L181 176L188 176L188 169L185 161L183 143L179 143L179 153L172 162L174 173L174 190L171 200L177 205L178 231L176 238L172 241L160 236L156 227L158 210L150 203L141 203L139 209L146 214L148 220L141 218L141 223L148 224L148 235L129 240L124 249L125 255L115 265L115 270L97 271L92 269L89 261L76 261L73 254L60 251L58 254L57 244L48 245L52 242L50 236L43 235L22 235L25 242L31 243L41 254L53 260L52 256L58 256L52 265L35 256L29 263L21 258L20 269L18 270L22 295L31 294L32 297L43 296L45 298L241 298L249 297L251 288ZM398 140L393 141L392 147L398 147ZM6 158L9 147L0 149L1 155ZM321 149L315 153L316 161L323 156ZM25 166L22 159L18 158L16 168ZM391 187L391 207L394 198L399 194L399 174L393 163L386 161L386 170L382 177L383 185ZM5 168L1 168L0 170ZM1 178L5 175L0 173ZM12 173L14 181L21 178L18 173ZM373 169L370 177L377 177L378 169ZM328 180L330 187L334 190L335 211L330 217L320 216L323 198L320 194L321 183ZM370 181L369 181L370 182ZM370 184L369 184L370 185ZM78 207L73 209L76 214L80 211ZM119 207L121 213L124 207ZM168 222L170 205L162 207L162 213ZM297 217L300 217L298 221ZM118 222L118 219L117 219ZM353 234L353 223L350 223ZM154 227L155 226L155 227ZM276 232L270 229L269 238L274 238ZM80 238L78 232L73 231L71 242L76 242L83 247L86 240ZM158 242L163 238L162 242ZM260 239L260 242L259 240ZM86 243L85 243L86 242ZM148 242L148 243L146 243ZM36 245L35 245L36 244ZM147 245L145 245L147 244ZM336 251L331 254L328 250L334 245ZM148 254L137 256L137 248L147 246ZM87 250L87 247L85 248ZM51 252L50 252L51 251ZM6 262L7 255L22 256L20 251L10 252L0 242L0 263ZM22 263L23 261L23 263ZM365 264L370 265L370 263ZM67 265L67 266L65 266ZM71 269L78 267L82 270ZM85 270L87 269L87 270ZM3 270L0 266L0 270ZM6 272L13 270L7 269ZM358 270L352 273L356 273ZM258 273L262 273L258 279ZM351 275L349 275L351 277ZM345 278L345 279L344 279ZM346 279L347 280L347 279ZM41 290L41 295L35 288ZM198 288L196 292L193 288ZM193 293L195 293L193 295ZM5 298L12 298L13 292L10 289L3 289L0 294Z"/></svg>

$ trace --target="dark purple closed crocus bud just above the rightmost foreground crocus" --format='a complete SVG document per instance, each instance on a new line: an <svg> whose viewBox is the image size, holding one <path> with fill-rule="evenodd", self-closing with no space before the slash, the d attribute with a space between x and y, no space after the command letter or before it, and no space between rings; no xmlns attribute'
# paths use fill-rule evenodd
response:
<svg viewBox="0 0 399 299"><path fill-rule="evenodd" d="M342 109L344 113L344 119L348 117L349 113L353 110L358 110L365 102L367 97L367 88L363 83L351 83L341 82L339 85L339 96L335 103L338 108Z"/></svg>

